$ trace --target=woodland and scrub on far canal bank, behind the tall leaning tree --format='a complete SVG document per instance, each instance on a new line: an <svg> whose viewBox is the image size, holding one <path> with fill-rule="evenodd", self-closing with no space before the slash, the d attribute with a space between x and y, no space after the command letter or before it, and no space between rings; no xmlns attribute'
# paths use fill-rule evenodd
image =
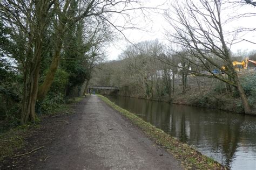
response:
<svg viewBox="0 0 256 170"><path fill-rule="evenodd" d="M168 47L158 40L129 46L119 56L119 60L100 63L93 72L90 83L119 88L119 91L99 90L98 93L101 94L245 112L237 87L221 80L232 81L228 74L207 63L209 70L214 74L211 75L199 64L187 60L193 58L187 50L174 53L167 49ZM230 59L234 61L245 58L255 60L256 52L231 53ZM224 65L218 58L213 61ZM251 63L248 69L240 68L234 73L238 75L253 114L256 109L255 66Z"/></svg>

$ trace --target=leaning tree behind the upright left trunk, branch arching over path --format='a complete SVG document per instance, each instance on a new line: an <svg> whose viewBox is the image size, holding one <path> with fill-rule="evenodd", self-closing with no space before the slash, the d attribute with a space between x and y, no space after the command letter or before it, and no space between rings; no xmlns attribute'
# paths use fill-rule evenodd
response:
<svg viewBox="0 0 256 170"><path fill-rule="evenodd" d="M49 68L48 74L45 76L44 82L38 89L38 100L43 100L47 92L51 87L54 75L56 73L58 63L60 60L60 52L63 46L63 38L66 32L70 29L73 24L76 24L80 20L90 19L91 17L96 17L98 19L104 20L104 22L109 23L117 31L122 33L125 29L123 26L114 25L109 17L112 13L117 13L126 18L129 22L130 16L126 13L131 10L143 10L144 7L134 8L132 4L138 4L135 0L118 0L118 1L54 1L54 8L56 11L55 17L55 52L52 56L51 66ZM76 13L76 9L79 8L79 13ZM134 29L134 27L133 27Z"/></svg>

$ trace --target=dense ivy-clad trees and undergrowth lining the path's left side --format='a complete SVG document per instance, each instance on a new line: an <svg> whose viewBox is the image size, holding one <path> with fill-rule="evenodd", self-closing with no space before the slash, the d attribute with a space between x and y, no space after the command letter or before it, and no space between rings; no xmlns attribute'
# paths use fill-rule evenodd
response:
<svg viewBox="0 0 256 170"><path fill-rule="evenodd" d="M146 15L146 9L122 0L1 1L0 131L34 123L83 95L107 44L127 27L136 29L127 12Z"/></svg>

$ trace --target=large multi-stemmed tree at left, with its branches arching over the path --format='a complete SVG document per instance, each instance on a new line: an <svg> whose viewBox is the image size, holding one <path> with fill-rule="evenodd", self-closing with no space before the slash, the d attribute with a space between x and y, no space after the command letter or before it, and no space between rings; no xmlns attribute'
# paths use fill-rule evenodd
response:
<svg viewBox="0 0 256 170"><path fill-rule="evenodd" d="M101 20L118 29L120 27L109 20L111 13L129 18L125 12L143 9L141 7L134 8L131 5L133 3L138 4L137 1L132 0L1 1L0 17L4 27L10 29L11 41L17 46L16 49L6 49L6 51L10 58L17 61L20 73L23 75L22 124L29 120L35 122L36 102L43 101L51 87L62 56L65 36L73 26L82 20L89 21L93 20L92 18L97 18L95 20ZM118 31L122 32L119 29ZM91 48L95 45L87 47ZM51 49L52 53L49 53L48 49ZM85 51L88 52L91 49ZM48 73L42 77L40 69L46 54L47 56L52 54L51 63L44 65L44 68L48 68ZM84 74L82 69L79 69L78 72ZM39 78L43 79L42 84L39 84Z"/></svg>

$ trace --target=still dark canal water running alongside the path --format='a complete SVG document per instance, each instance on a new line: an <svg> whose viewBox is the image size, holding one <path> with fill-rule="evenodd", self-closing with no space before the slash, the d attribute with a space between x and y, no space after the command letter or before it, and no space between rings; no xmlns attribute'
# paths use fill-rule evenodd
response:
<svg viewBox="0 0 256 170"><path fill-rule="evenodd" d="M256 116L139 98L106 97L231 169L256 169Z"/></svg>

